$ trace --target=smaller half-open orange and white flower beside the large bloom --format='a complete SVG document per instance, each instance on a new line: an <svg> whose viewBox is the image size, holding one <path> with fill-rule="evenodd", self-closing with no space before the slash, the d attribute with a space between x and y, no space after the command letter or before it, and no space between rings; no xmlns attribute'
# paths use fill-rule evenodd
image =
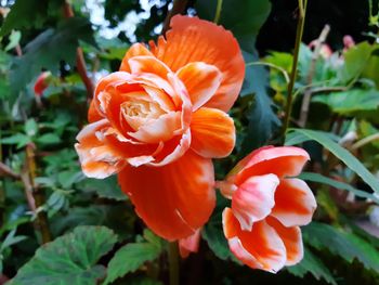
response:
<svg viewBox="0 0 379 285"><path fill-rule="evenodd" d="M306 183L292 178L309 155L292 146L252 152L219 187L232 199L223 228L232 252L253 269L277 272L303 257L299 225L311 222L316 200Z"/></svg>

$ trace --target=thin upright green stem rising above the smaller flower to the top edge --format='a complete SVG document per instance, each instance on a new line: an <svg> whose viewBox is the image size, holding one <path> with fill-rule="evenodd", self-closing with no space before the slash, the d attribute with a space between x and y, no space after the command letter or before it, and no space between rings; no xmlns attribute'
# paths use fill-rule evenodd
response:
<svg viewBox="0 0 379 285"><path fill-rule="evenodd" d="M285 141L286 132L289 126L289 120L292 112L292 101L293 101L293 87L296 82L296 76L298 73L298 62L299 62L299 53L301 39L303 37L304 24L305 24L305 11L306 11L308 0L299 0L299 20L298 27L296 31L296 41L295 41L295 51L293 51L293 60L292 60L292 69L290 74L290 80L287 88L287 105L286 105L286 115L283 122L282 129L282 140Z"/></svg>

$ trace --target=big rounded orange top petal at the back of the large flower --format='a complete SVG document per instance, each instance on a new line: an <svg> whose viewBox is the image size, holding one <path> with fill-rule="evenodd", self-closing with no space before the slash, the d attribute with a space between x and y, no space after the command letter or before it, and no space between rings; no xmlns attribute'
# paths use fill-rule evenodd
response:
<svg viewBox="0 0 379 285"><path fill-rule="evenodd" d="M245 77L245 62L237 40L231 31L211 22L175 15L166 39L159 37L157 46L149 42L152 53L178 72L192 62L217 66L222 81L206 106L227 112L238 96Z"/></svg>

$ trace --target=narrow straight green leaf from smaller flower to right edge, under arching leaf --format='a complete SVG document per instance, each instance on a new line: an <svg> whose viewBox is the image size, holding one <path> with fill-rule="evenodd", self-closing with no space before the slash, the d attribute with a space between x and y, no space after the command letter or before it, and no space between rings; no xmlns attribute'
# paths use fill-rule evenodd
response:
<svg viewBox="0 0 379 285"><path fill-rule="evenodd" d="M302 180L311 181L311 182L326 184L326 185L332 186L335 189L345 190L345 191L354 193L354 195L356 195L358 197L368 198L368 199L371 199L375 203L379 204L379 198L377 198L375 195L367 193L365 191L362 191L362 190L357 190L348 183L337 181L337 180L328 178L328 177L324 177L319 173L302 172L299 176L299 178Z"/></svg>

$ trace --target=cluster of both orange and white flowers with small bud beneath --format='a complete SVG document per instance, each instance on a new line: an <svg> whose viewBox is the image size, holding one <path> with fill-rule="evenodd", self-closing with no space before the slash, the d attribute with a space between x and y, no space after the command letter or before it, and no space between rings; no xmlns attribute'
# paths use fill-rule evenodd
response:
<svg viewBox="0 0 379 285"><path fill-rule="evenodd" d="M89 125L75 145L82 171L118 174L121 190L156 234L196 251L200 229L215 205L212 158L230 155L235 127L227 115L238 96L245 64L223 27L177 15L166 38L149 49L133 44L120 69L96 86ZM232 199L223 215L232 252L246 264L277 271L301 259L301 233L315 209L297 176L308 154L262 148L224 182Z"/></svg>

